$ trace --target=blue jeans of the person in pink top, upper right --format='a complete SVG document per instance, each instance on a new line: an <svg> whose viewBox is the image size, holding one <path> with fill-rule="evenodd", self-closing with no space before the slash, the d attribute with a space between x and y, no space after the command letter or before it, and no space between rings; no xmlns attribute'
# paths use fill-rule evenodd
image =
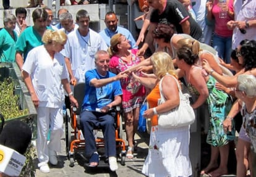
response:
<svg viewBox="0 0 256 177"><path fill-rule="evenodd" d="M213 48L218 52L218 56L224 60L226 64L230 64L232 36L222 37L213 35Z"/></svg>

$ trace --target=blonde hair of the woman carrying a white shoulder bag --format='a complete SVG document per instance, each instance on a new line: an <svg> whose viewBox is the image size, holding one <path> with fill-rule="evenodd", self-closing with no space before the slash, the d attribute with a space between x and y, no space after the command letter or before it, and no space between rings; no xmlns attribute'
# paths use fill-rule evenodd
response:
<svg viewBox="0 0 256 177"><path fill-rule="evenodd" d="M151 62L155 68L154 73L158 79L163 78L166 73L176 76L174 70L173 59L166 52L155 52L151 56ZM177 78L177 76L176 76Z"/></svg>

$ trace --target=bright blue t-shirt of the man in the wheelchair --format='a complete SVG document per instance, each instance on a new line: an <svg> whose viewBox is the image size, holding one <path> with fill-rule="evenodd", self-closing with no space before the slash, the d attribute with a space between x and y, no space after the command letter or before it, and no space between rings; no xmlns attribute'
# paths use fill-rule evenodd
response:
<svg viewBox="0 0 256 177"><path fill-rule="evenodd" d="M96 108L101 109L114 101L114 96L122 95L120 81L108 83L100 88L90 85L92 79L97 80L116 76L114 73L108 72L106 76L101 76L96 69L88 70L85 73L85 97L83 99L82 110L94 111Z"/></svg>

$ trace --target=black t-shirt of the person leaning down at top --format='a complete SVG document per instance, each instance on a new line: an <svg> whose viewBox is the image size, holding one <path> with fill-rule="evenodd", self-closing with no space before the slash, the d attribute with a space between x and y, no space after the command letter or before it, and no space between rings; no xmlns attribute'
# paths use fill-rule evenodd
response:
<svg viewBox="0 0 256 177"><path fill-rule="evenodd" d="M153 10L150 22L159 23L167 20L167 22L172 23L176 27L177 33L184 33L182 31L181 23L185 20L189 20L190 36L194 39L199 39L202 36L202 29L197 22L190 17L189 12L187 12L183 4L177 0L167 0L166 3L166 8L162 14L158 14L157 9Z"/></svg>

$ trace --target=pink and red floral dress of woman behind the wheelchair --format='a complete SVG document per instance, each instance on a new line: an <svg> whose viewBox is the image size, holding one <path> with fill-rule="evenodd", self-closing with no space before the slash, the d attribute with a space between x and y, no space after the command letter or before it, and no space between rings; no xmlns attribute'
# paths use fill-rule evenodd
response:
<svg viewBox="0 0 256 177"><path fill-rule="evenodd" d="M140 63L140 58L136 56L137 49L132 49L132 59L129 63L122 60L118 56L111 57L109 62L109 68L114 68L117 73L123 72L134 65ZM142 76L141 72L135 73L138 76ZM145 88L138 81L132 80L132 74L129 74L128 78L121 79L122 86L122 108L124 112L130 112L135 107L140 107L145 96Z"/></svg>

